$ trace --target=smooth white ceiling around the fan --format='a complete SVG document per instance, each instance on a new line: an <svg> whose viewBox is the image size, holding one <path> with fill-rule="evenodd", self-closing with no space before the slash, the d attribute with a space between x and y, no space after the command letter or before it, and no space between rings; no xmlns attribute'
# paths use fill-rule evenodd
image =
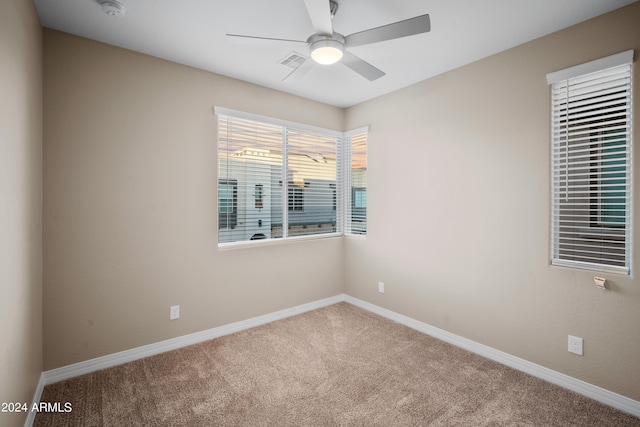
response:
<svg viewBox="0 0 640 427"><path fill-rule="evenodd" d="M110 17L100 0L34 0L42 25L235 77L339 107L392 92L636 0L338 0L344 34L428 13L431 32L354 47L386 72L370 82L342 64L314 64L303 78L279 62L304 44L238 43L227 33L306 40L314 31L303 0L119 0Z"/></svg>

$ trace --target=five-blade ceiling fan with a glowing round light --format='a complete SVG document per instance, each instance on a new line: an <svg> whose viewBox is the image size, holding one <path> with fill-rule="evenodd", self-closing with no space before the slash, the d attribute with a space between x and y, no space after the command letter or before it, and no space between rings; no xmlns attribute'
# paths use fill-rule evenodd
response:
<svg viewBox="0 0 640 427"><path fill-rule="evenodd" d="M336 1L304 0L304 3L311 18L311 24L315 30L315 33L309 36L307 40L279 39L242 34L227 34L227 36L254 39L256 41L268 40L306 43L309 47L311 58L315 62L323 65L342 62L342 64L360 74L362 77L374 81L384 76L385 73L349 52L349 48L413 36L431 30L431 21L429 20L429 15L426 14L343 36L333 30L332 18L338 11L338 3ZM306 59L298 68L289 73L289 75L284 78L284 81L290 80L294 73L298 75L298 77L301 76L310 66L311 61Z"/></svg>

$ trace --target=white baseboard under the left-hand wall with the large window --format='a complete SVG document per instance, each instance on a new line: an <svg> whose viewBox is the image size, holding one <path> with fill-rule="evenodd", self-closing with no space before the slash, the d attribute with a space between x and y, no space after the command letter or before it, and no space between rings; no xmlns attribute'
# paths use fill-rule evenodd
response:
<svg viewBox="0 0 640 427"><path fill-rule="evenodd" d="M207 329L205 331L195 332L193 334L183 335L181 337L172 338L166 341L160 341L154 344L136 347L132 348L131 350L125 350L119 353L113 353L107 356L97 357L95 359L90 359L84 362L74 363L73 365L63 366L61 368L45 371L42 373L42 376L44 378L44 385L53 384L58 381L63 381L80 375L89 374L91 372L100 371L102 369L111 368L113 366L132 362L134 360L144 359L145 357L154 356L166 351L175 350L192 344L197 344L224 335L233 334L234 332L239 332L245 329L254 328L256 326L264 325L265 323L274 322L276 320L295 316L296 314L301 314L306 311L311 311L317 308L336 304L338 302L344 301L344 299L345 295L339 294L333 297L276 311L274 313L265 314L263 316L253 317L251 319L230 323L228 325L219 326L217 328Z"/></svg>

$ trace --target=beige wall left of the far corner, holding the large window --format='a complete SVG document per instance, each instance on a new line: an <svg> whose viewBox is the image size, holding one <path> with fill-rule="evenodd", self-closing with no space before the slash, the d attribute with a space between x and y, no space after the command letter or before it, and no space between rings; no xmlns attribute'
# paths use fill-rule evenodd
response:
<svg viewBox="0 0 640 427"><path fill-rule="evenodd" d="M213 107L338 130L343 110L52 30L44 41L45 370L343 291L340 239L218 250Z"/></svg>

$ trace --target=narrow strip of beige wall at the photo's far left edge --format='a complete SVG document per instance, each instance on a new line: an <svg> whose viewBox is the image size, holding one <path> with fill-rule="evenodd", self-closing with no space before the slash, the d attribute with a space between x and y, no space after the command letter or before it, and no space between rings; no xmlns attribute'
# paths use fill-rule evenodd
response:
<svg viewBox="0 0 640 427"><path fill-rule="evenodd" d="M42 29L32 2L0 13L0 402L42 372ZM25 413L0 413L22 425Z"/></svg>

